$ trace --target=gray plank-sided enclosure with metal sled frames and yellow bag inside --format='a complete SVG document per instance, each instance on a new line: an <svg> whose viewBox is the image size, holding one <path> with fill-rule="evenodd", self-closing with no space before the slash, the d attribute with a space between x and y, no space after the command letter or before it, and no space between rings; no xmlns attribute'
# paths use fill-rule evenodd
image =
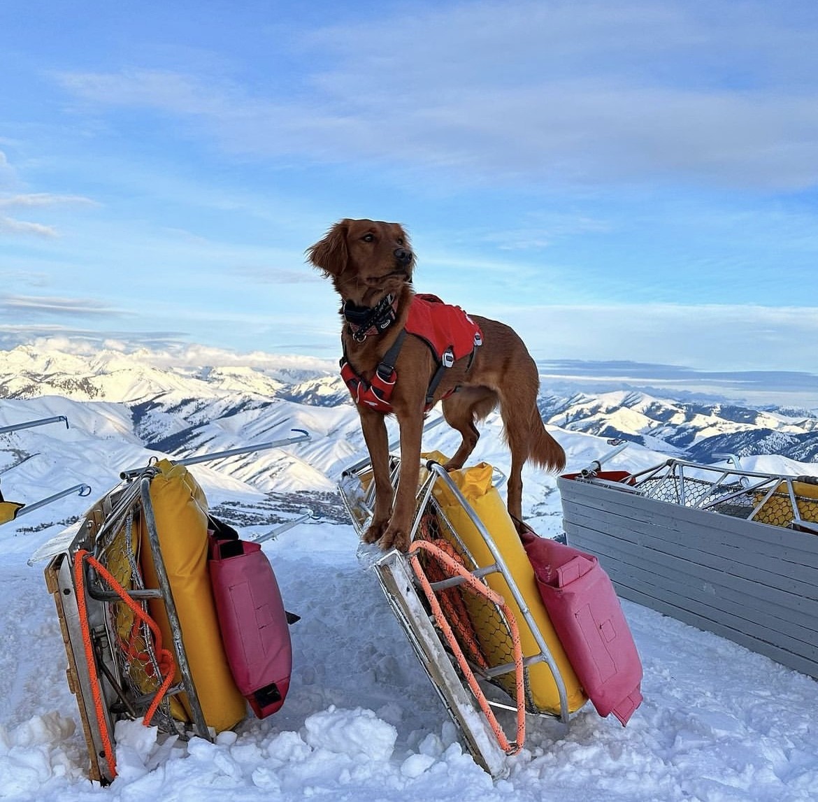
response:
<svg viewBox="0 0 818 802"><path fill-rule="evenodd" d="M818 678L818 478L669 459L558 480L568 542L620 595Z"/></svg>

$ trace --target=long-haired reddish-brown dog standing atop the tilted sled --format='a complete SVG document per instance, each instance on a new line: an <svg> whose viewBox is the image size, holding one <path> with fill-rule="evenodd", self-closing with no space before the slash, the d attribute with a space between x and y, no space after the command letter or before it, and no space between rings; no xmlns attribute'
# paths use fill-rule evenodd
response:
<svg viewBox="0 0 818 802"><path fill-rule="evenodd" d="M407 336L411 307L423 298L439 300L416 296L411 283L416 257L398 223L340 220L306 253L341 298L342 375L356 400L375 480L375 507L363 540L384 550L407 551L425 412L440 399L443 417L462 437L443 466L447 471L464 465L480 436L475 424L499 404L511 453L507 506L511 516L522 520L524 463L531 460L550 471L565 466L564 450L546 431L537 409L539 374L523 340L505 323L465 315L456 307L449 309L458 309L475 330L470 353L461 349L439 358L424 335ZM388 403L379 404L387 392ZM400 430L396 493L389 481L384 422L390 413Z"/></svg>

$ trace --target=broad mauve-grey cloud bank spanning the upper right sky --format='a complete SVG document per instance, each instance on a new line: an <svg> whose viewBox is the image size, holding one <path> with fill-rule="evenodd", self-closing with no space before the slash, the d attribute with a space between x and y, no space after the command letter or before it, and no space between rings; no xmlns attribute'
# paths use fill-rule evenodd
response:
<svg viewBox="0 0 818 802"><path fill-rule="evenodd" d="M763 5L734 11L479 2L356 20L304 34L302 83L271 82L267 96L157 70L59 80L86 101L204 120L260 155L470 181L814 186L815 48Z"/></svg>

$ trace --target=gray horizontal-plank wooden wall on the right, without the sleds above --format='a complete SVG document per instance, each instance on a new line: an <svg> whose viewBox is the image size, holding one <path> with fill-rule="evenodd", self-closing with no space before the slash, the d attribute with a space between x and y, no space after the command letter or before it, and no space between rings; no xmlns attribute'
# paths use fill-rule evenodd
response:
<svg viewBox="0 0 818 802"><path fill-rule="evenodd" d="M621 597L818 678L818 535L557 484L568 542Z"/></svg>

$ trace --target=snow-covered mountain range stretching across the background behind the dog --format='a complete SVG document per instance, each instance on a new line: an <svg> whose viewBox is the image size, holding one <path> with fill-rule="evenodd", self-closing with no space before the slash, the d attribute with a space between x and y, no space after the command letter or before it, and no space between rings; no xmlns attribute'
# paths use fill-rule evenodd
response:
<svg viewBox="0 0 818 802"><path fill-rule="evenodd" d="M640 467L668 456L717 462L725 454L751 460L775 455L793 462L795 473L816 472L808 464L818 462L815 409L691 402L634 389L548 390L543 385L539 408L568 453L569 469L599 457L610 448L607 441L627 440L633 444L628 464ZM285 520L300 507L344 520L335 485L344 467L366 453L357 414L331 361L207 365L174 363L144 349L70 354L22 345L0 351L0 427L52 416L65 416L70 428L0 435L7 498L12 489L37 498L71 481L104 491L119 471L164 454L218 453L306 430L308 443L223 457L197 468L197 476L234 521ZM437 417L433 411L429 421ZM396 426L389 426L394 438ZM506 454L496 412L481 431L474 459L502 469ZM425 448L444 453L457 442L445 426L425 436ZM528 471L526 481L528 512L556 515L553 477Z"/></svg>

